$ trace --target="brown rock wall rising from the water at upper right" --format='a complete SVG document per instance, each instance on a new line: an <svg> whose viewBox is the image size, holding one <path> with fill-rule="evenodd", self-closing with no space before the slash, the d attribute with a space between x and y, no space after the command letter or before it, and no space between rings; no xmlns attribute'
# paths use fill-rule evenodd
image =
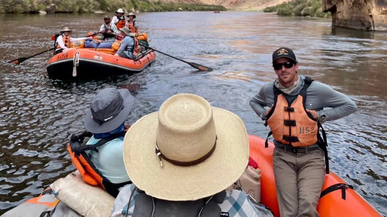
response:
<svg viewBox="0 0 387 217"><path fill-rule="evenodd" d="M332 25L368 31L387 31L386 0L322 0L332 13Z"/></svg>

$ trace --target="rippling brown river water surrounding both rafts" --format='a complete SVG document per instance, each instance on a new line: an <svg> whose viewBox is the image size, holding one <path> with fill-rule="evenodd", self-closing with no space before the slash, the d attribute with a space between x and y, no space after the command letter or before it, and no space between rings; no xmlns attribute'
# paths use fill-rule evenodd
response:
<svg viewBox="0 0 387 217"><path fill-rule="evenodd" d="M111 14L113 16L113 14ZM150 45L209 66L199 72L158 54L141 73L105 80L60 81L47 77L52 53L19 66L6 61L53 46L64 26L86 36L103 23L101 14L0 15L0 214L37 196L75 170L65 149L70 134L84 130L96 91L131 90L136 98L127 122L158 110L176 93L195 93L239 115L249 134L269 130L249 100L276 75L271 53L292 48L299 72L347 94L358 111L324 124L330 169L387 216L387 34L332 28L330 19L280 17L262 12L159 12L137 15Z"/></svg>

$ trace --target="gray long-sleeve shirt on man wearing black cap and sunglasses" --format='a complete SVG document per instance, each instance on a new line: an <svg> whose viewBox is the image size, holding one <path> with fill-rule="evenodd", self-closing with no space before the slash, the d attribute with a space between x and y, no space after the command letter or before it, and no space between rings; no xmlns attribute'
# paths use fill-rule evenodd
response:
<svg viewBox="0 0 387 217"><path fill-rule="evenodd" d="M291 96L298 95L304 86L305 76L300 74L298 76L300 76L300 85L291 94L289 94ZM250 106L253 108L254 112L262 118L262 120L265 120L266 111L268 109L265 108L265 106L270 108L271 105L274 104L273 85L273 82L265 83L259 92L250 100ZM319 81L313 81L307 89L305 107L307 109L317 111L317 117L320 123L340 119L356 112L358 109L356 104L349 97L343 93L333 90L328 85L320 83ZM327 107L330 107L331 109L323 110L323 108ZM323 115L325 115L325 118L322 118ZM289 146L276 140L274 140L274 144L276 146ZM312 146L317 145L313 144Z"/></svg>

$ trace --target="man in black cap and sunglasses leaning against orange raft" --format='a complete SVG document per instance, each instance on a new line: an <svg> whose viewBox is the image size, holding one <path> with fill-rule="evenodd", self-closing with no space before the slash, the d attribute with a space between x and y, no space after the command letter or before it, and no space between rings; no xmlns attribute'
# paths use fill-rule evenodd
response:
<svg viewBox="0 0 387 217"><path fill-rule="evenodd" d="M346 95L299 75L291 49L277 49L272 59L278 78L262 86L250 105L269 125L269 136L274 137L273 168L279 212L281 217L319 216L316 208L324 184L323 152L329 173L326 141L319 128L325 121L355 112L357 106ZM324 107L332 109L323 110Z"/></svg>

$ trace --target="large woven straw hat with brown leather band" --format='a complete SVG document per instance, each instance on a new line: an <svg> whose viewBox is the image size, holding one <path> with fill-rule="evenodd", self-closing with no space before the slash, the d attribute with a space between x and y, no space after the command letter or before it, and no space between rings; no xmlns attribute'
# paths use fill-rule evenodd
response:
<svg viewBox="0 0 387 217"><path fill-rule="evenodd" d="M248 154L243 121L189 93L168 98L158 112L137 120L123 142L132 182L152 197L171 201L225 190L245 171Z"/></svg>

